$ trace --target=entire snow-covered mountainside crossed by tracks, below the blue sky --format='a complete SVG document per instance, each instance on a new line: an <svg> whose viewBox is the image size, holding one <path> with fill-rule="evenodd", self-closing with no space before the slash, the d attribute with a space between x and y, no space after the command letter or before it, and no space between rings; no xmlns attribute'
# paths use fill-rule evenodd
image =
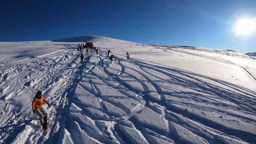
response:
<svg viewBox="0 0 256 144"><path fill-rule="evenodd" d="M77 50L85 42L98 53ZM0 42L0 53L1 144L256 143L254 57L100 36Z"/></svg>

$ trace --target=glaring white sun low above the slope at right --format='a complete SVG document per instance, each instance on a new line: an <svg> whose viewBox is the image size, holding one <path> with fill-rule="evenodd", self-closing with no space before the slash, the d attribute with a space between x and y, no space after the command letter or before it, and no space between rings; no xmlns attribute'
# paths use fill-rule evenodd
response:
<svg viewBox="0 0 256 144"><path fill-rule="evenodd" d="M237 35L238 34L250 34L256 29L256 22L252 19L243 19L237 23Z"/></svg>

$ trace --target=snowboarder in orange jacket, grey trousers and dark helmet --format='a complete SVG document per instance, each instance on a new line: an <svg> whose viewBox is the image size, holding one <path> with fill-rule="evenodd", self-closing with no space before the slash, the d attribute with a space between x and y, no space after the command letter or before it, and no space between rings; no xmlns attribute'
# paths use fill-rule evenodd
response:
<svg viewBox="0 0 256 144"><path fill-rule="evenodd" d="M49 102L45 99L44 96L42 96L42 91L37 91L33 101L32 101L32 110L33 113L36 113L39 118L40 118L40 124L44 125L45 123L43 122L43 118L47 117L47 114L45 112L45 110L43 109L42 105L43 105L43 101L46 102L48 104L48 106L50 106Z"/></svg>

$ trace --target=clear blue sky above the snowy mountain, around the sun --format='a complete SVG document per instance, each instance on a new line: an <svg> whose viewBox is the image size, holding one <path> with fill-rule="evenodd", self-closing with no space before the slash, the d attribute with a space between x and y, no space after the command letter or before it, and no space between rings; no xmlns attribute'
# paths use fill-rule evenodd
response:
<svg viewBox="0 0 256 144"><path fill-rule="evenodd" d="M256 0L0 0L0 41L96 35L246 53L256 36L234 25L255 16Z"/></svg>

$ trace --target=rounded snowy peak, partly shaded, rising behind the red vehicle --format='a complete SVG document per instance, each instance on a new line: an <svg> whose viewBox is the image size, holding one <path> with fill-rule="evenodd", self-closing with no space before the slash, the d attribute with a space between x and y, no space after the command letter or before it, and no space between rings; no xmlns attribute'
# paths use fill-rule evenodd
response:
<svg viewBox="0 0 256 144"><path fill-rule="evenodd" d="M112 39L112 38L103 37L103 36L77 36L77 37L68 37L64 39L52 40L52 42L115 42L115 41L128 42L125 40Z"/></svg>

